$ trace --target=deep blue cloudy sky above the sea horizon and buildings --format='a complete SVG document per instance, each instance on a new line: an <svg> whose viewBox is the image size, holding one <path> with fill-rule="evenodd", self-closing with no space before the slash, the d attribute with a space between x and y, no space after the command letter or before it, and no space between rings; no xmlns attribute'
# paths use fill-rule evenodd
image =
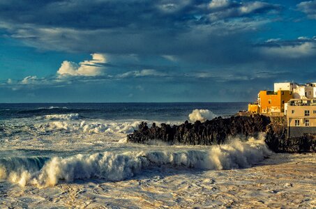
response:
<svg viewBox="0 0 316 209"><path fill-rule="evenodd" d="M248 102L316 82L316 0L1 0L0 102Z"/></svg>

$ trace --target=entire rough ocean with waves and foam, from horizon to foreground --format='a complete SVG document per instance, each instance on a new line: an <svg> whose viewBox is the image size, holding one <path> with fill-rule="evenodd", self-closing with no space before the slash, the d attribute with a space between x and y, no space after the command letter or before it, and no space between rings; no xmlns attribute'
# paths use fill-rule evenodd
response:
<svg viewBox="0 0 316 209"><path fill-rule="evenodd" d="M229 208L249 199L272 207L271 194L284 189L285 199L305 192L309 200L297 206L315 206L315 155L274 154L264 134L221 146L126 141L142 121L180 124L243 109L246 102L0 104L0 207ZM310 164L310 178L294 184L288 175L276 186L271 168L294 163Z"/></svg>

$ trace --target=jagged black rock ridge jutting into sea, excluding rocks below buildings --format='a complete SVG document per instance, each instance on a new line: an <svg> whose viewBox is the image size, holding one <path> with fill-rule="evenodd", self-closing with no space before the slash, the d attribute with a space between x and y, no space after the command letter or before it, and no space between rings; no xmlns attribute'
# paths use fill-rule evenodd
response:
<svg viewBox="0 0 316 209"><path fill-rule="evenodd" d="M133 134L128 134L128 141L145 143L149 140L159 139L169 144L186 145L212 145L223 144L230 136L242 134L246 137L255 136L258 132L266 132L271 123L270 118L262 115L232 116L231 118L214 118L211 121L201 123L189 123L181 125L166 125L160 127L155 123L149 128L146 123L139 125L139 129Z"/></svg>

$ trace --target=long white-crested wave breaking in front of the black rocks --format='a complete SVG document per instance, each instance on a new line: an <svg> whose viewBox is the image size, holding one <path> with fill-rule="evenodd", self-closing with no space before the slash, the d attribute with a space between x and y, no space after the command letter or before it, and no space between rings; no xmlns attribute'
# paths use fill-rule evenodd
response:
<svg viewBox="0 0 316 209"><path fill-rule="evenodd" d="M0 160L0 174L1 178L22 186L47 187L57 185L61 180L68 183L87 178L125 180L137 173L146 172L146 169L158 167L240 169L250 167L270 154L271 151L266 148L262 140L250 139L247 142L235 140L231 144L211 146L209 150L105 152L65 158L52 157L50 160L46 158L21 160L12 157L8 160Z"/></svg>

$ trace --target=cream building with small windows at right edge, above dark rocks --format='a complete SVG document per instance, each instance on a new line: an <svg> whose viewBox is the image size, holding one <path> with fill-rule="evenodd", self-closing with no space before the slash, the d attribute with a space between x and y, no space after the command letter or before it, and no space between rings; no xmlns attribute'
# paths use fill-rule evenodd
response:
<svg viewBox="0 0 316 209"><path fill-rule="evenodd" d="M288 137L316 134L316 98L289 100L287 127Z"/></svg>

